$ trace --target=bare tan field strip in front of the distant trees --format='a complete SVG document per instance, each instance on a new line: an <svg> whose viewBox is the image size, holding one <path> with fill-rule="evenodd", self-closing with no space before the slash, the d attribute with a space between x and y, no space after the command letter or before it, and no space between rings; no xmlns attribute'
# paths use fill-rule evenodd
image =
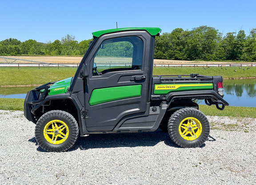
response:
<svg viewBox="0 0 256 185"><path fill-rule="evenodd" d="M36 61L36 62L46 62L46 63L59 63L59 64L76 64L80 63L81 59L83 57L68 57L68 56L59 56L59 57L51 57L51 56L39 56L39 57L33 57L33 56L12 56L8 58L17 58L22 60L29 60L29 61ZM13 62L14 59L7 59L7 58L0 58L0 63L6 63ZM21 61L16 60L15 63L29 63L28 61ZM206 62L206 61L181 61L181 60L160 60L160 59L154 59L154 64L220 64L224 62ZM232 63L232 62L226 62L226 63Z"/></svg>

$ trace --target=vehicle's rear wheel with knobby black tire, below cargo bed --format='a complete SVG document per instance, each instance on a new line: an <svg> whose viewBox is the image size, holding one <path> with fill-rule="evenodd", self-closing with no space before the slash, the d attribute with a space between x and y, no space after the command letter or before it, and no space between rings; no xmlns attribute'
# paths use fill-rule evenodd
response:
<svg viewBox="0 0 256 185"><path fill-rule="evenodd" d="M210 124L201 111L195 108L182 108L170 117L168 133L177 145L195 148L203 145L208 139Z"/></svg>

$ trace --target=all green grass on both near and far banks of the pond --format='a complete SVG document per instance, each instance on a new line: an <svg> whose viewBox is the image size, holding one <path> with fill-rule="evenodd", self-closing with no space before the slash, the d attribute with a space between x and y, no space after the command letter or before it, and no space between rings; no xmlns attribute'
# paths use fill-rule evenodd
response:
<svg viewBox="0 0 256 185"><path fill-rule="evenodd" d="M236 72L234 70L236 69ZM243 70L245 69L245 70ZM50 81L58 81L74 76L76 68L71 67L1 67L0 85L34 85L45 84ZM200 73L202 75L216 76L221 75L224 78L238 77L256 77L256 67L249 69L238 67L211 67L204 69L202 67L170 67L153 69L153 75L171 75L171 74L190 74ZM2 110L23 110L24 100L0 98L0 109ZM233 116L233 117L251 117L256 118L256 108L244 107L226 107L224 111L219 111L215 106L200 105L200 110L209 116Z"/></svg>

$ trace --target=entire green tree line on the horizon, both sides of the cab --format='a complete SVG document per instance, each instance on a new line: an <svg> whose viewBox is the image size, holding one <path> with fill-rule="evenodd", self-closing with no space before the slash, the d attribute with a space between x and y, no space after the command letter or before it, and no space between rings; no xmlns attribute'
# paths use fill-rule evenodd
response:
<svg viewBox="0 0 256 185"><path fill-rule="evenodd" d="M61 40L42 43L36 40L20 42L5 39L0 42L1 56L19 55L84 55L92 39L78 42L72 35ZM214 27L200 26L192 30L176 28L156 37L157 59L203 61L256 61L256 28L249 35L244 30L223 35Z"/></svg>

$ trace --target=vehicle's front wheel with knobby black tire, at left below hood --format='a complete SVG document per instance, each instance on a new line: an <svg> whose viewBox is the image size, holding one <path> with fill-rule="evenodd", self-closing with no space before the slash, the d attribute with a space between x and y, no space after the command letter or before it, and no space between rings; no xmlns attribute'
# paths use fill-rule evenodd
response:
<svg viewBox="0 0 256 185"><path fill-rule="evenodd" d="M35 137L39 146L48 152L64 152L78 138L78 124L68 112L46 112L36 123Z"/></svg>

